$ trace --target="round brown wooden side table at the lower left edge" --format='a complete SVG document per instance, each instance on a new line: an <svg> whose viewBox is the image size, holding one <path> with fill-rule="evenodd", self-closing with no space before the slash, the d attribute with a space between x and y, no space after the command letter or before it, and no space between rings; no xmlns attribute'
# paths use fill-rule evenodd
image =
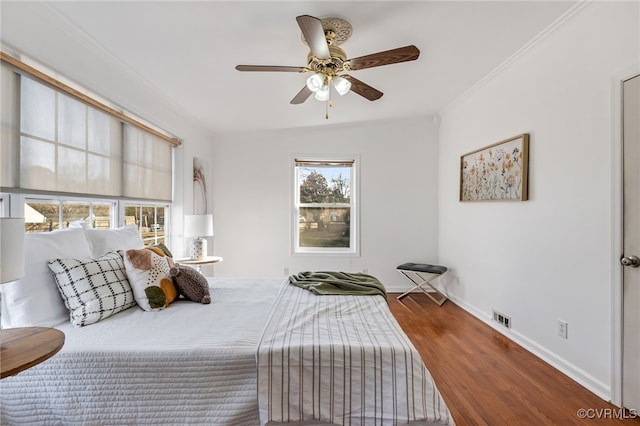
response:
<svg viewBox="0 0 640 426"><path fill-rule="evenodd" d="M0 379L51 358L64 345L64 333L48 327L0 330Z"/></svg>

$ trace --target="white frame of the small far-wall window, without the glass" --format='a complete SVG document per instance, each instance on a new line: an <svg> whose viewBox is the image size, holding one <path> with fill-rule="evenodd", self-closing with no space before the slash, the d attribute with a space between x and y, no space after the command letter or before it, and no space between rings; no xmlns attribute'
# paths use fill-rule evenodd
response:
<svg viewBox="0 0 640 426"><path fill-rule="evenodd" d="M314 207L331 207L338 204L350 209L350 223L349 223L349 247L301 247L300 246L300 228L299 228L299 216L300 209L309 207L308 205L302 205L300 203L300 184L298 179L298 163L299 162L313 162L322 165L322 167L331 166L331 163L351 163L351 176L350 176L350 203L318 203ZM325 255L325 256L360 256L360 209L359 209L359 174L360 174L360 157L355 154L295 154L291 156L291 185L292 185L292 202L291 202L291 254L295 256L309 256L309 255Z"/></svg>

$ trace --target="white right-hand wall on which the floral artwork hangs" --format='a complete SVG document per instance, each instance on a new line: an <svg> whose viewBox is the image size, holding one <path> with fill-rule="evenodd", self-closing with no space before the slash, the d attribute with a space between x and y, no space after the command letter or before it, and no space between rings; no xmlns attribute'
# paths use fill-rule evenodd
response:
<svg viewBox="0 0 640 426"><path fill-rule="evenodd" d="M639 3L597 2L442 113L439 259L454 300L608 398L612 79L639 60ZM460 203L460 155L530 133L530 200ZM568 322L567 340L557 322Z"/></svg>

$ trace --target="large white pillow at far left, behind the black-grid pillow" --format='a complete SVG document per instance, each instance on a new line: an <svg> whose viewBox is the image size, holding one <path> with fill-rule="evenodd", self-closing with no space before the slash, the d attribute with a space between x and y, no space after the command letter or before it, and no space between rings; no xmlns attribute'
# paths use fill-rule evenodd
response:
<svg viewBox="0 0 640 426"><path fill-rule="evenodd" d="M2 327L53 327L69 320L56 282L47 266L50 259L91 257L82 228L26 234L24 276L2 286Z"/></svg>

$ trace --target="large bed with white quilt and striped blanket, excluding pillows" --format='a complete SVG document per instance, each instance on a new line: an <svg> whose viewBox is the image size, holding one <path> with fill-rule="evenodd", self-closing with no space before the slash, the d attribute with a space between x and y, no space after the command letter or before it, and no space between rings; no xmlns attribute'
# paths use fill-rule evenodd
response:
<svg viewBox="0 0 640 426"><path fill-rule="evenodd" d="M453 424L384 298L209 286L211 304L55 325L62 350L0 383L0 423Z"/></svg>

